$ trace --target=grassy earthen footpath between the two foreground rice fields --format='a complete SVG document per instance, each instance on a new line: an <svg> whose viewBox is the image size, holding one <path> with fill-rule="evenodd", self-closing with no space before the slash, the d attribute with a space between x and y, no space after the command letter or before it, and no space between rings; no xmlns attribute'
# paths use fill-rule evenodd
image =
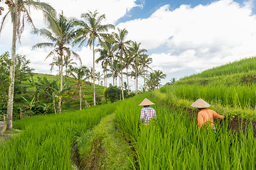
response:
<svg viewBox="0 0 256 170"><path fill-rule="evenodd" d="M116 129L114 113L78 137L73 151L78 169L132 169L132 149Z"/></svg>

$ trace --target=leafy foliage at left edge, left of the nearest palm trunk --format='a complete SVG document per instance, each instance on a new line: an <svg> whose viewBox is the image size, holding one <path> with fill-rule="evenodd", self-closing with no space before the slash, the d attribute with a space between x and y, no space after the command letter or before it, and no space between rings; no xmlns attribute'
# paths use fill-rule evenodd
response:
<svg viewBox="0 0 256 170"><path fill-rule="evenodd" d="M7 101L7 93L9 88L9 69L11 60L9 59L9 52L0 55L0 103Z"/></svg>

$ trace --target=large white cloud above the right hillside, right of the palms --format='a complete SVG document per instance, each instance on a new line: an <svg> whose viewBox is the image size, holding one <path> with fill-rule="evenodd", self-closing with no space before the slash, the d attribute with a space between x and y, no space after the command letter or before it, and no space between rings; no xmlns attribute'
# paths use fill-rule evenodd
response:
<svg viewBox="0 0 256 170"><path fill-rule="evenodd" d="M211 67L256 55L256 16L252 1L244 6L232 1L215 1L207 6L181 5L170 11L161 6L149 18L120 23L129 38L142 47L162 52L151 54L152 67L166 73ZM185 75L183 75L185 76Z"/></svg>

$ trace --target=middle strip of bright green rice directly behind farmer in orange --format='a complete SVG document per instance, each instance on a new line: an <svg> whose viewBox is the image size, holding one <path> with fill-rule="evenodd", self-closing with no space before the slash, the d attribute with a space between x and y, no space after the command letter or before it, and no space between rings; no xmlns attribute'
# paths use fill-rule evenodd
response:
<svg viewBox="0 0 256 170"><path fill-rule="evenodd" d="M199 86L196 84L182 84L178 86L164 86L161 91L171 91L180 98L187 98L196 101L203 98L208 102L214 101L223 106L232 106L234 108L255 108L256 86L225 86L220 84L218 88L214 85Z"/></svg>

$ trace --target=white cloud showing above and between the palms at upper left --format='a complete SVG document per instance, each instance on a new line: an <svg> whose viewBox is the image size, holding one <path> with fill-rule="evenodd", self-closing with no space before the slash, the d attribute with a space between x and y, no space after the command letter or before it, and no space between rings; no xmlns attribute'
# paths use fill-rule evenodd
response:
<svg viewBox="0 0 256 170"><path fill-rule="evenodd" d="M82 0L63 0L63 1L50 1L41 0L41 2L46 2L53 6L58 13L63 11L66 17L75 17L80 19L82 13L87 13L88 11L94 12L97 10L100 14L105 13L106 21L105 23L115 23L119 18L122 18L127 11L132 8L141 6L136 4L137 0L94 0L91 2ZM4 4L5 5L5 4ZM3 5L3 6L4 6ZM117 7L118 6L118 7ZM114 9L114 10L113 10ZM6 13L7 8L3 11L2 16ZM35 11L31 8L31 17L36 28L46 28L43 21L43 15L41 11ZM6 23L4 29L1 32L0 37L0 52L4 53L6 50L11 52L11 39L12 39L12 25L11 18L6 18ZM50 62L51 59L45 61L46 56L52 49L35 49L31 50L33 45L38 42L48 42L46 38L38 35L31 34L31 27L28 23L25 23L25 30L21 36L21 44L16 43L16 53L21 55L26 55L28 60L31 60L31 67L35 68L35 72L50 73ZM92 67L92 50L87 47L82 47L82 50L77 51L82 59L82 63L87 67ZM97 58L97 55L96 57ZM95 68L97 71L101 70L100 64L96 64ZM53 74L56 74L56 70L53 70Z"/></svg>

